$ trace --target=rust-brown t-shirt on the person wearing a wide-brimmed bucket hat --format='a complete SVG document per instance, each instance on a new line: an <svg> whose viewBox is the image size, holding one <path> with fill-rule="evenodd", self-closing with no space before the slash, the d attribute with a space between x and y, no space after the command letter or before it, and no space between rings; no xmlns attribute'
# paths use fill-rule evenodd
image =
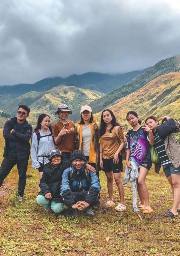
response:
<svg viewBox="0 0 180 256"><path fill-rule="evenodd" d="M67 130L67 133L61 137L60 143L57 145L57 148L61 152L69 152L72 153L75 150L75 138L74 138L74 123L72 121L67 121L64 129ZM60 131L63 128L63 124L58 121L53 124L52 131L53 136L57 137Z"/></svg>

